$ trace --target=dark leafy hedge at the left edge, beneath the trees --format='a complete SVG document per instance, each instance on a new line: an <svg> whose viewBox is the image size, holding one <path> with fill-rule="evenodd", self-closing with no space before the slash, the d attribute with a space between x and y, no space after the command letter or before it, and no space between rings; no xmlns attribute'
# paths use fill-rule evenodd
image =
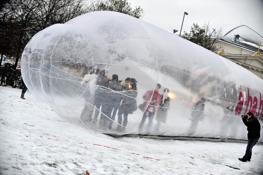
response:
<svg viewBox="0 0 263 175"><path fill-rule="evenodd" d="M0 86L12 86L13 88L23 88L21 70L12 68L0 68Z"/></svg>

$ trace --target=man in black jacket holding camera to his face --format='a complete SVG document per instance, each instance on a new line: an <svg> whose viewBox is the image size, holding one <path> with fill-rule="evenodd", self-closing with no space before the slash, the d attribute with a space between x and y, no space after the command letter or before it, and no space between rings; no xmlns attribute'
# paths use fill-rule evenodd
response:
<svg viewBox="0 0 263 175"><path fill-rule="evenodd" d="M252 148L256 145L260 137L260 123L252 112L242 115L243 123L247 126L248 130L248 143L246 146L246 153L243 158L238 158L242 162L250 161L252 155Z"/></svg>

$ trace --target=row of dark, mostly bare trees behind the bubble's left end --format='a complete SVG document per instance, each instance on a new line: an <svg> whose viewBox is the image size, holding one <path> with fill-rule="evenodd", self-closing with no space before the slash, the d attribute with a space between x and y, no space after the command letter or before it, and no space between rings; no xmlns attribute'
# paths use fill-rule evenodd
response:
<svg viewBox="0 0 263 175"><path fill-rule="evenodd" d="M140 18L141 7L128 0L2 0L0 2L0 52L16 57L15 67L29 40L40 30L63 24L92 11L117 11Z"/></svg>

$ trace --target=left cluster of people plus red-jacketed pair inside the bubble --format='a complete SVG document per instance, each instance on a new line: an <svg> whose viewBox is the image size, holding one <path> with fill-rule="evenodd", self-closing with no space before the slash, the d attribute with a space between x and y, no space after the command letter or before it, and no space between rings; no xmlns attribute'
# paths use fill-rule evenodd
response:
<svg viewBox="0 0 263 175"><path fill-rule="evenodd" d="M169 89L164 89L164 93L161 95L159 93L160 84L157 84L154 90L149 90L143 95L144 101L140 105L137 105L136 100L137 81L135 78L128 77L119 80L116 74L113 74L110 78L106 70L100 70L97 66L94 66L90 74L84 76L81 85L85 88L82 89L85 105L80 115L83 123L92 122L95 124L101 111L100 128L104 130L105 128L112 129L118 111L118 125L115 130L124 131L128 123L128 115L133 114L137 108L144 112L139 125L140 132L147 118L149 120L148 132L150 132L153 125L154 117L157 120L155 131L159 131L161 123L166 122L167 110L170 105Z"/></svg>

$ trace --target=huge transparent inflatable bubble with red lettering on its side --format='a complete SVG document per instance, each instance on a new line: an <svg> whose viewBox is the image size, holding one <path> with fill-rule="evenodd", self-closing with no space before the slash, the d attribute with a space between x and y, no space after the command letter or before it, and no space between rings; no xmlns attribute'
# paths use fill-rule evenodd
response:
<svg viewBox="0 0 263 175"><path fill-rule="evenodd" d="M249 111L263 126L262 79L122 13L87 13L38 32L21 71L57 115L101 133L247 139Z"/></svg>

